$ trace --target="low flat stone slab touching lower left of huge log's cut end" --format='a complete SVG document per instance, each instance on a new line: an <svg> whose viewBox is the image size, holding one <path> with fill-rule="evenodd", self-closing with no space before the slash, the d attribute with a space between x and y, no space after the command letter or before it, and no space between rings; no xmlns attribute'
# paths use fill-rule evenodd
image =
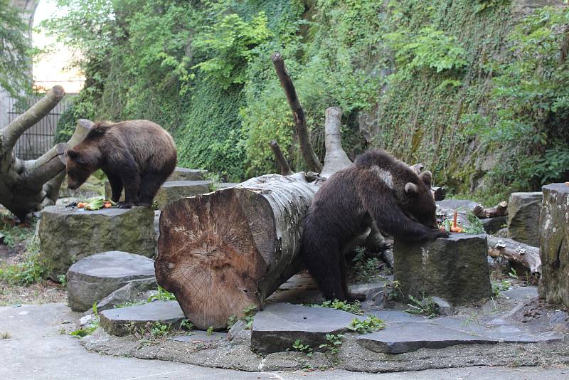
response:
<svg viewBox="0 0 569 380"><path fill-rule="evenodd" d="M100 323L106 332L122 337L129 334L125 324L144 326L148 322L179 325L186 317L176 301L154 301L144 305L121 307L100 313Z"/></svg>

